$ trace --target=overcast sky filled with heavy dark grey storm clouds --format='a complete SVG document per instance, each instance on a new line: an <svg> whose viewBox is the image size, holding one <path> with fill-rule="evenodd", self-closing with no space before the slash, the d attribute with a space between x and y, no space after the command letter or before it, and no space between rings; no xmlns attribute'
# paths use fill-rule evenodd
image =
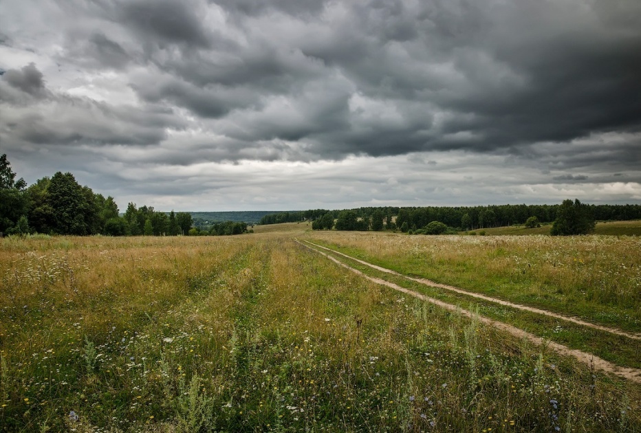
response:
<svg viewBox="0 0 641 433"><path fill-rule="evenodd" d="M121 211L641 203L638 0L2 0L0 74Z"/></svg>

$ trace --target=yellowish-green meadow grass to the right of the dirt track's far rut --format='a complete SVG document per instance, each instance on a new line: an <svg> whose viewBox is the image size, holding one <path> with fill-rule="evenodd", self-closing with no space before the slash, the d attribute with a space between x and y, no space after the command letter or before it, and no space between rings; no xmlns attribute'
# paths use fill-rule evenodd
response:
<svg viewBox="0 0 641 433"><path fill-rule="evenodd" d="M404 274L641 331L641 240L635 236L309 237Z"/></svg>

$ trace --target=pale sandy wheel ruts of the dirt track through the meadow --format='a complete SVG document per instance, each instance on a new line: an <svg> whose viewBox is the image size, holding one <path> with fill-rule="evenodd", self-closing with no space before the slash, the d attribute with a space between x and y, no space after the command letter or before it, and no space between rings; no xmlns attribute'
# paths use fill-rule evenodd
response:
<svg viewBox="0 0 641 433"><path fill-rule="evenodd" d="M387 272L389 274L394 274L394 275L398 275L398 276L403 276L403 275L402 274L398 274L397 272L391 271L389 269L378 267L376 265L371 265L371 264L369 264L367 262L364 262L362 260L358 260L356 258L352 258L350 256L347 256L346 254L335 252L333 249L329 249L329 248L326 248L326 247L323 247L323 246L320 246L320 245L316 245L316 244L311 243L309 241L305 241L305 243L309 243L309 245L305 245L305 243L301 243L301 241L298 241L298 239L296 239L296 242L300 243L301 245L303 245L303 246L305 246L305 247L307 247L309 249L312 249L315 252L318 252L318 254L322 254L323 256L329 258L329 260L334 261L338 265L349 269L350 271L362 276L363 278L367 278L368 280L376 282L377 284L385 285L387 287L391 287L392 289L395 289L395 290L398 290L398 291L402 291L403 293L406 293L406 294L408 294L410 296L414 296L415 298L419 298L419 299L425 300L427 302L431 302L432 304L435 304L438 307L442 307L442 308L450 310L450 311L457 311L461 315L464 315L464 316L466 316L468 318L472 318L473 316L475 316L477 318L477 320L479 320L479 322L482 322L482 323L485 323L485 324L490 324L491 326L495 326L496 328L501 329L502 331L506 331L506 332L516 336L516 337L521 338L521 339L525 338L526 340L528 340L528 341L530 341L530 342L532 342L532 343L534 343L536 345L541 346L541 345L545 344L545 345L547 345L547 347L552 348L552 350L556 351L556 353L559 353L559 354L564 355L564 356L572 356L572 357L578 359L580 362L583 362L584 364L587 364L589 366L594 366L594 368L596 368L598 370L602 370L602 371L605 371L606 373L611 373L613 375L618 375L620 377L624 377L625 379L629 379L629 380L634 381L634 382L636 382L638 384L641 384L641 370L640 369L616 366L616 365L612 364L611 362L607 362L605 359L601 359L600 357L592 355L591 353L579 351L577 349L572 349L572 348L569 348L567 346L563 346L563 344L558 344L558 343L555 343L555 342L551 342L550 340L544 340L543 338L537 337L536 335L534 335L532 333L528 333L526 331L523 331L523 329L519 329L516 326L512 326L512 325L509 325L509 324L506 324L506 323L503 323L503 322L499 322L497 320L492 320L492 319L489 319L489 318L484 318L482 316L475 315L474 313L472 313L472 312L470 312L468 310L461 309L460 307L457 307L456 305L448 304L446 302L443 302L443 301L440 301L440 300L437 300L437 299L430 298L428 296L422 295L421 293L417 293L415 291L411 291L409 289L405 289L404 287L400 287L399 285L395 285L393 282L389 282L387 280L383 280L382 278L374 278L374 277L371 277L371 276L367 276L366 274L363 274L358 269L354 269L353 267L350 267L349 265L346 265L345 263L341 262L340 260L337 260L336 258L334 258L332 256L329 256L329 254L325 254L324 252L319 251L318 249L312 248L309 245L314 245L315 247L326 249L328 251L334 252L335 254L340 254L341 256L345 256L347 258L351 258L352 260L356 260L356 261L358 261L358 263L362 263L364 265L371 266L374 269L378 269L380 271L384 271L384 272ZM406 277L406 276L404 276L404 277L405 278L409 278L409 277ZM414 278L410 278L410 279L415 280ZM419 281L419 280L417 280L417 281ZM437 284L437 283L433 283L433 284ZM441 285L438 285L437 287L441 287ZM442 287L442 288L447 288L447 287ZM455 289L455 288L453 288L453 289ZM457 290L460 290L460 289L457 289ZM470 294L470 292L467 292L467 291L462 291L462 292L466 293L466 294ZM495 299L494 298L488 298L488 300L495 300ZM505 301L501 301L501 302L505 302ZM510 305L509 302L507 304ZM516 304L511 304L511 305L516 305ZM524 306L521 306L521 307L524 307ZM527 309L528 311L535 311L535 312L545 311L545 310L529 309L529 307L525 307L524 309ZM546 311L546 312L550 313L550 311ZM553 315L554 313L551 313L551 314L552 314L552 317L556 317L556 315ZM560 316L560 318L564 318L565 319L565 316ZM583 324L583 323L587 323L587 322L580 322L579 321L579 323ZM608 329L606 328L605 330L608 330ZM627 334L624 334L624 335L627 335Z"/></svg>

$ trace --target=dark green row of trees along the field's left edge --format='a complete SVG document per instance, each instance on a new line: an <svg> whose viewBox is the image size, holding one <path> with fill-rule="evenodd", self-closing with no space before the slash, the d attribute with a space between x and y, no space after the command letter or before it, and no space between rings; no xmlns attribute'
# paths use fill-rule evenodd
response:
<svg viewBox="0 0 641 433"><path fill-rule="evenodd" d="M240 234L245 223L215 224L207 231L193 227L188 212L159 212L129 203L121 216L113 197L81 186L72 173L58 172L27 186L16 179L7 155L0 156L0 233L71 234L85 236L177 236Z"/></svg>

